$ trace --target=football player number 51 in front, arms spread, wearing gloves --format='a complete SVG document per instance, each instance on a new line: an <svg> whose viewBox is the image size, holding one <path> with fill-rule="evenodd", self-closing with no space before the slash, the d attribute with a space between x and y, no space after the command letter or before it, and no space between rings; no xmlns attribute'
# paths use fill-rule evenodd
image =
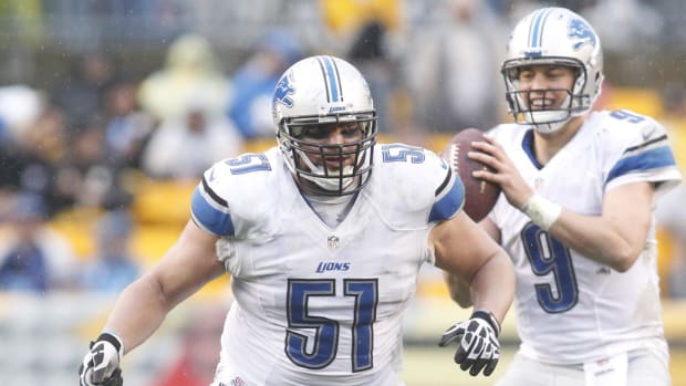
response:
<svg viewBox="0 0 686 386"><path fill-rule="evenodd" d="M278 146L205 173L191 219L124 290L81 385L121 383L122 356L225 273L235 302L212 385L402 385L402 319L424 262L470 283L471 319L440 344L457 342L460 367L489 375L514 273L461 211L459 178L433 152L376 144L367 83L341 59L293 64L272 113Z"/></svg>

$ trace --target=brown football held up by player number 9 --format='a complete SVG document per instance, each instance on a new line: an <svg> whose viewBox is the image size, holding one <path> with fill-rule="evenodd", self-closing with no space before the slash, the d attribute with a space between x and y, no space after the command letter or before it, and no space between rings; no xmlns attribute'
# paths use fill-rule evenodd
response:
<svg viewBox="0 0 686 386"><path fill-rule="evenodd" d="M477 128L465 128L450 138L441 156L465 185L465 212L474 221L480 221L496 205L500 187L471 176L472 171L487 168L486 165L467 157L475 140L484 140L484 133Z"/></svg>

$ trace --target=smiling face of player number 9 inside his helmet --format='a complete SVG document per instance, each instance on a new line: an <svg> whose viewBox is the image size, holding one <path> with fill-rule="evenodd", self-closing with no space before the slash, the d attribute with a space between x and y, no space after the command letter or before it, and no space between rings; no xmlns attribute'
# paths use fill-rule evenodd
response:
<svg viewBox="0 0 686 386"><path fill-rule="evenodd" d="M559 65L532 65L519 72L524 104L532 111L559 108L574 85L574 69Z"/></svg>

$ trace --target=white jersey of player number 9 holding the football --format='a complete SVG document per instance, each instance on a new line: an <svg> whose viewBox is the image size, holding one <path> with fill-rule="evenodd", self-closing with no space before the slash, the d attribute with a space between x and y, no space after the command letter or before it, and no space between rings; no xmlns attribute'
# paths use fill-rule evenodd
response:
<svg viewBox="0 0 686 386"><path fill-rule="evenodd" d="M676 185L679 173L663 127L628 111L594 112L542 167L530 126L490 131L524 180L541 196L583 216L601 216L603 195L634 181ZM563 246L510 206L505 195L489 215L517 271L521 353L553 364L580 364L636 347L666 359L656 270L655 223L636 263L620 273Z"/></svg>

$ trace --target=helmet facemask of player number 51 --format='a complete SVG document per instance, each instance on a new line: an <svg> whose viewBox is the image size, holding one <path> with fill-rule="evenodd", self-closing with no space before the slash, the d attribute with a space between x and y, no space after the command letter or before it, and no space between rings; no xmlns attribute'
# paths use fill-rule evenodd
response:
<svg viewBox="0 0 686 386"><path fill-rule="evenodd" d="M344 133L349 135L354 134L350 131L354 127L358 139L323 143L329 133L340 126L346 126L349 129ZM314 195L345 196L362 189L370 179L376 134L376 114L370 112L284 119L277 139L301 187ZM351 157L352 163L349 161ZM320 161L315 164L313 159Z"/></svg>

